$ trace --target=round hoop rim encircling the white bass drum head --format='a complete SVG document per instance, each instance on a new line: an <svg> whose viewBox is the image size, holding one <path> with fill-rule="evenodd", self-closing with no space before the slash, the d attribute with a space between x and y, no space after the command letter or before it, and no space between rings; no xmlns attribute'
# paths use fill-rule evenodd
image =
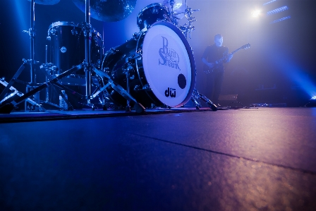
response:
<svg viewBox="0 0 316 211"><path fill-rule="evenodd" d="M183 33L173 24L165 22L165 21L157 21L156 23L152 24L150 26L150 28L154 27L154 25L164 25L168 28L171 28L171 30L174 30L174 32L176 32L176 34L178 35L178 37L180 37L181 41L183 42L184 46L186 47L186 52L188 53L189 59L190 59L190 67L191 67L191 83L190 83L190 89L188 91L188 95L186 96L186 98L183 100L183 102L181 102L180 104L173 106L173 107L181 107L183 104L186 104L190 98L191 95L193 94L193 90L195 88L195 80L196 80L196 67L195 67L195 60L194 60L194 56L193 56L193 52L192 49L190 47L190 44L188 43L188 40L186 40L186 37L183 35ZM145 32L142 32L141 35L138 37L138 42L136 45L136 51L135 51L135 55L138 55L140 52L140 49L142 49L142 42L140 42L140 40L143 40L143 38L145 38L145 35L147 33L147 31L150 30L150 28L148 28L148 30L146 30ZM138 62L135 62L135 66L136 66L136 70L138 73L138 78L140 79L140 83L142 85L142 87L144 87L145 83L142 83L142 79L140 77L140 66L138 66ZM143 74L146 78L145 73ZM147 80L147 78L146 78ZM148 97L150 97L150 99L154 102L161 102L156 95L154 95L154 92L152 91L147 91L145 90L146 94L148 95ZM163 102L162 102L163 103ZM169 105L166 105L167 107L170 107Z"/></svg>

